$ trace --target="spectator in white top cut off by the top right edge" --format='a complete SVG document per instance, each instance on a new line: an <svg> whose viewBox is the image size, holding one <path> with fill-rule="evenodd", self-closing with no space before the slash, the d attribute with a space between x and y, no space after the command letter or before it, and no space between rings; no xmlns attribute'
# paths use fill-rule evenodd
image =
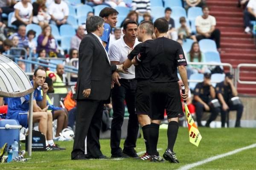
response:
<svg viewBox="0 0 256 170"><path fill-rule="evenodd" d="M244 10L244 26L247 34L250 33L250 21L256 20L256 0L250 0Z"/></svg>

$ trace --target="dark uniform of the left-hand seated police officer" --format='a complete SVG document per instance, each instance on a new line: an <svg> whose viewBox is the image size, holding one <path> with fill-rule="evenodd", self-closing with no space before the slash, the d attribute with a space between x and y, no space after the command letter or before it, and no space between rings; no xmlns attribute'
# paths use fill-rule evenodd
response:
<svg viewBox="0 0 256 170"><path fill-rule="evenodd" d="M199 96L210 108L211 116L209 117L207 121L207 125L210 124L213 120L216 119L218 116L218 113L220 112L220 108L214 108L212 105L209 105L209 102L211 102L210 96L210 86L209 85L204 85L204 82L199 82L195 86L195 91L194 91L194 96ZM195 105L195 114L196 114L196 119L198 122L198 126L201 125L201 118L203 115L203 112L205 111L204 105L200 102L197 102L193 100L193 104Z"/></svg>

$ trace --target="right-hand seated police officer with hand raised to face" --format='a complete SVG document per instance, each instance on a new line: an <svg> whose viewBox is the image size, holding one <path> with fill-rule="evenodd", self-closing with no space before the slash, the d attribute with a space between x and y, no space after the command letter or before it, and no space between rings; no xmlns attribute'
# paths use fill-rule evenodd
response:
<svg viewBox="0 0 256 170"><path fill-rule="evenodd" d="M221 127L225 127L226 116L229 114L229 111L236 111L235 127L240 127L240 119L244 110L244 106L239 98L233 98L238 93L233 85L232 79L233 75L229 72L226 73L224 81L218 83L215 88L217 97L221 102Z"/></svg>

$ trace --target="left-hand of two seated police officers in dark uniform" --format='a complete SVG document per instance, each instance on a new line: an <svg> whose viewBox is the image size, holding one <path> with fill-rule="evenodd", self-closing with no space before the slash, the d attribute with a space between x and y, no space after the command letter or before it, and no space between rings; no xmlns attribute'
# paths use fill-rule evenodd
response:
<svg viewBox="0 0 256 170"><path fill-rule="evenodd" d="M209 127L210 123L216 119L218 113L220 112L219 107L215 107L211 104L212 99L215 99L215 89L211 84L211 74L204 73L204 81L199 82L195 86L193 100L193 104L195 105L196 119L199 127L202 126L201 117L204 111L211 112L211 116L205 125L206 127Z"/></svg>

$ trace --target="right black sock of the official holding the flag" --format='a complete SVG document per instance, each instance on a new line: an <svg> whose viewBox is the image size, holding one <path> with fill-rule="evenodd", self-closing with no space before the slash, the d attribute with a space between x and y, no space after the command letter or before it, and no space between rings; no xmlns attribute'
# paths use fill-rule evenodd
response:
<svg viewBox="0 0 256 170"><path fill-rule="evenodd" d="M171 121L168 124L167 136L168 136L168 149L173 152L173 147L177 138L179 124L176 121Z"/></svg>

